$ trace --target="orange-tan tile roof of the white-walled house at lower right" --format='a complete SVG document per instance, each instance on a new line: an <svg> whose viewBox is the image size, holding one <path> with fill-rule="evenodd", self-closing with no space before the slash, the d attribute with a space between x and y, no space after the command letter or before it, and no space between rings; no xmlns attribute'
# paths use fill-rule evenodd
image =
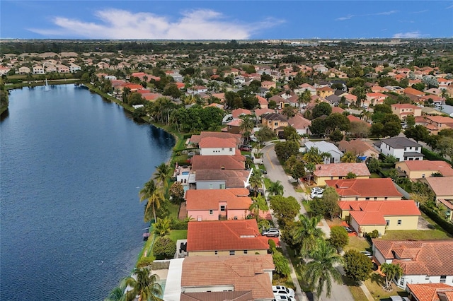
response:
<svg viewBox="0 0 453 301"><path fill-rule="evenodd" d="M384 259L399 264L405 275L453 275L453 240L373 240L373 244ZM403 249L410 251L405 254Z"/></svg>

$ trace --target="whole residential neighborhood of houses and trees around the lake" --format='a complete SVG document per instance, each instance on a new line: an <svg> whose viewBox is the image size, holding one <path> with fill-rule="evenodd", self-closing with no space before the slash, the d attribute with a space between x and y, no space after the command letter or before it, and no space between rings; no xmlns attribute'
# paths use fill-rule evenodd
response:
<svg viewBox="0 0 453 301"><path fill-rule="evenodd" d="M175 137L137 189L161 300L453 300L451 46L363 42L8 44L0 73Z"/></svg>

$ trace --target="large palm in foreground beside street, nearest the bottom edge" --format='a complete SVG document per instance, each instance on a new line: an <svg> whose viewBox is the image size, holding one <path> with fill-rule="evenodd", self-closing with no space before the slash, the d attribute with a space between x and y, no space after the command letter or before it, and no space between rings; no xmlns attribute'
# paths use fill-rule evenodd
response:
<svg viewBox="0 0 453 301"><path fill-rule="evenodd" d="M304 267L304 278L309 281L309 284L316 288L316 296L319 298L326 289L326 296L331 296L332 280L337 283L341 282L341 274L335 268L336 264L340 264L343 259L337 254L337 250L328 244L325 240L320 240L316 248L310 252L312 259Z"/></svg>

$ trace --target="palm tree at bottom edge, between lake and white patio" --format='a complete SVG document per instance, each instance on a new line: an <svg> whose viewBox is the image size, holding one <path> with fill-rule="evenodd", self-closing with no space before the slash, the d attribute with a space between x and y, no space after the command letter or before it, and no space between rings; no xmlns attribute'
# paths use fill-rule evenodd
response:
<svg viewBox="0 0 453 301"><path fill-rule="evenodd" d="M159 301L162 287L158 283L159 276L151 274L149 268L135 268L135 277L127 277L125 283L132 287L132 293L139 296L139 301Z"/></svg>

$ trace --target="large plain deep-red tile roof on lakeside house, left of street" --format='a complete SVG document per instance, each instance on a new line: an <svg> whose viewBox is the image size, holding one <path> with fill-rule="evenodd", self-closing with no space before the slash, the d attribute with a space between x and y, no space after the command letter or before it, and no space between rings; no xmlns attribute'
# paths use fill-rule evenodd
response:
<svg viewBox="0 0 453 301"><path fill-rule="evenodd" d="M188 224L189 252L267 250L268 237L261 236L256 220L191 221Z"/></svg>

